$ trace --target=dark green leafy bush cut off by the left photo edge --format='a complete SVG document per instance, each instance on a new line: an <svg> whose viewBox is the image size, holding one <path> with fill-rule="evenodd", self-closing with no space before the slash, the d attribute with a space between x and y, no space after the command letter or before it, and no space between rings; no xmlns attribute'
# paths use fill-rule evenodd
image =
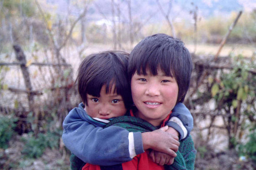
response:
<svg viewBox="0 0 256 170"><path fill-rule="evenodd" d="M15 122L17 119L13 119L12 116L0 116L0 148L7 148L8 141L10 141L16 127Z"/></svg>

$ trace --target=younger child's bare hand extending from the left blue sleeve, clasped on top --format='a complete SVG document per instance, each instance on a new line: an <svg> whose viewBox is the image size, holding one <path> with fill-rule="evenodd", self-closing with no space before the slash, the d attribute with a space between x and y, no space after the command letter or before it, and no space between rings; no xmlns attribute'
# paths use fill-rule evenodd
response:
<svg viewBox="0 0 256 170"><path fill-rule="evenodd" d="M142 133L143 148L153 149L155 151L163 152L172 157L176 157L175 152L178 151L180 146L179 138L177 136L171 135L167 131L168 126L164 126L153 132Z"/></svg>

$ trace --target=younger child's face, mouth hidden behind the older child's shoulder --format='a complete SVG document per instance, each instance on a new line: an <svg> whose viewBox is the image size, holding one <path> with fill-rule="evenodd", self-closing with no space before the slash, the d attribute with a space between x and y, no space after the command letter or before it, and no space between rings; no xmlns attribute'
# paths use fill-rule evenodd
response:
<svg viewBox="0 0 256 170"><path fill-rule="evenodd" d="M103 85L100 91L100 97L87 94L87 103L85 111L93 118L109 119L125 115L126 108L121 95L114 92L115 85L112 86L111 93L106 94L106 86ZM109 90L110 91L110 90Z"/></svg>

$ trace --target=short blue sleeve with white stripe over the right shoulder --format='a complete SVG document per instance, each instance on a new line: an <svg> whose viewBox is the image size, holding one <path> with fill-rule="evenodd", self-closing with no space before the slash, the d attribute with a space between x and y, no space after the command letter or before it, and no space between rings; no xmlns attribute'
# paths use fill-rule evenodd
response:
<svg viewBox="0 0 256 170"><path fill-rule="evenodd" d="M183 103L177 103L172 110L168 126L174 128L180 134L180 140L186 139L193 129L193 117Z"/></svg>

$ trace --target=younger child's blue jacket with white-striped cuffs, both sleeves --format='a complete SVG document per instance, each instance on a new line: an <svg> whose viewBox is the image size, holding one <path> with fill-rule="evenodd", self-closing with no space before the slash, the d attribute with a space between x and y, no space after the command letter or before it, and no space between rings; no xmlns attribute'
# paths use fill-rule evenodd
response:
<svg viewBox="0 0 256 170"><path fill-rule="evenodd" d="M178 103L170 117L167 125L180 133L180 139L187 138L193 128L193 117L186 106ZM103 129L104 126L105 123L87 115L80 103L63 122L63 142L81 160L97 165L121 164L144 152L141 132L128 132L118 126Z"/></svg>

